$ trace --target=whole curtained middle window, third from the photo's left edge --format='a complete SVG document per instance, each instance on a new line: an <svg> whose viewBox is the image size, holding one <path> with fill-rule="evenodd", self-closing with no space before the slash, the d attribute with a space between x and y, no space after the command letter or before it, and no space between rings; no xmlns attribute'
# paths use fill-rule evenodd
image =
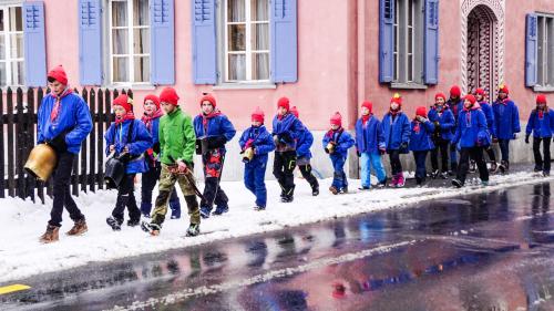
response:
<svg viewBox="0 0 554 311"><path fill-rule="evenodd" d="M225 82L269 81L269 0L225 0Z"/></svg>

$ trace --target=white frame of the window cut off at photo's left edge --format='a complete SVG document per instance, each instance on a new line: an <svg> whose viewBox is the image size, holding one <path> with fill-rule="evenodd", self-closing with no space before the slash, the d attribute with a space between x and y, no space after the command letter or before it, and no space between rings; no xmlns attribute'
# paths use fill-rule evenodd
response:
<svg viewBox="0 0 554 311"><path fill-rule="evenodd" d="M9 28L10 28L10 23L9 23L9 19L10 19L10 9L11 8L20 8L21 9L21 31L10 31ZM0 84L0 87L8 87L8 86L22 86L23 83L24 83L24 65L25 65L25 60L24 60L24 42L23 42L23 45L22 45L22 49L23 51L21 51L21 55L22 58L12 58L11 55L11 35L13 34L22 34L24 35L24 32L23 32L23 28L24 28L24 17L23 17L23 6L21 3L12 3L12 4L0 4L0 11L3 11L3 17L4 17L4 30L1 31L1 33L3 34L4 37L4 46L6 46L6 60L0 60L1 63L6 63L6 85L1 85ZM12 81L12 63L13 62L21 62L22 65L23 65L23 76L20 77L21 80L21 84L14 84L13 81Z"/></svg>

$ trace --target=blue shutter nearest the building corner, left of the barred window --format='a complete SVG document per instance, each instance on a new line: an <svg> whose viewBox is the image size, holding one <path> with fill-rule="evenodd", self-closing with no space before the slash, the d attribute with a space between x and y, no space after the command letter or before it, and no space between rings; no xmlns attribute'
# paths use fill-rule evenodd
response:
<svg viewBox="0 0 554 311"><path fill-rule="evenodd" d="M379 0L379 82L394 79L394 2Z"/></svg>

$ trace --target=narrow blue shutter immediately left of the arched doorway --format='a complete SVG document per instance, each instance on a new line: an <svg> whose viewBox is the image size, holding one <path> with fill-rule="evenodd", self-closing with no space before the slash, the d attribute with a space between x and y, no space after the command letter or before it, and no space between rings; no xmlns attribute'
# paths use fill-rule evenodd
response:
<svg viewBox="0 0 554 311"><path fill-rule="evenodd" d="M425 0L424 19L424 83L437 84L439 83L439 0Z"/></svg>

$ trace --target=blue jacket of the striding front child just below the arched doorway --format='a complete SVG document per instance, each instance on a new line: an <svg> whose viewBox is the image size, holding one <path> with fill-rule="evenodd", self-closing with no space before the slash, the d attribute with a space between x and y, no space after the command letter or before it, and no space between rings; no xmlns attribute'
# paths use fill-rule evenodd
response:
<svg viewBox="0 0 554 311"><path fill-rule="evenodd" d="M489 141L479 142L480 139L486 139L486 137L490 137L486 129L486 118L479 105L475 105L471 111L464 110L460 112L454 138L452 138L453 144L460 143L462 148L488 146L490 145L490 138Z"/></svg>

